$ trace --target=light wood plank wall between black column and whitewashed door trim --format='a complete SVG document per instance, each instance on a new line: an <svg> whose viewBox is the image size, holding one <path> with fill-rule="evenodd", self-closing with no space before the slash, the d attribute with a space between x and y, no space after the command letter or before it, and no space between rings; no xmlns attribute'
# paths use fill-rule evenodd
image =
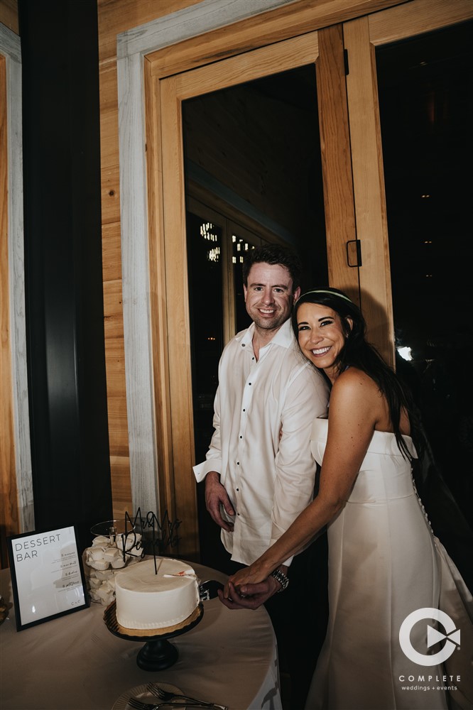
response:
<svg viewBox="0 0 473 710"><path fill-rule="evenodd" d="M121 305L116 35L199 0L98 0L104 329L114 517L132 512Z"/></svg>

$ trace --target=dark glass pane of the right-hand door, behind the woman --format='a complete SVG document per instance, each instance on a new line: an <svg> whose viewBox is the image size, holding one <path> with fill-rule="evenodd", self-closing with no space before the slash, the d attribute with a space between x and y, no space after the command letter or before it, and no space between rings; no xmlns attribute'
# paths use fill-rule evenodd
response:
<svg viewBox="0 0 473 710"><path fill-rule="evenodd" d="M435 458L430 473L441 474L467 515L472 38L472 23L464 23L376 50L396 346L412 356L398 359L398 370L421 405ZM440 484L424 482L428 507ZM445 493L432 509L442 505L448 507ZM432 522L441 536L441 521L437 528Z"/></svg>

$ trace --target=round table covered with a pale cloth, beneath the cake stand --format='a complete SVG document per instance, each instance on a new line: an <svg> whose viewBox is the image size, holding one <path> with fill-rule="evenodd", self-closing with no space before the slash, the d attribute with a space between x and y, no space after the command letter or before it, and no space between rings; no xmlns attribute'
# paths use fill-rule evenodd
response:
<svg viewBox="0 0 473 710"><path fill-rule="evenodd" d="M226 579L190 564L202 581ZM8 569L0 572L0 594L13 603ZM12 607L0 626L1 709L111 710L132 687L165 682L229 710L281 710L276 639L266 609L230 611L219 599L203 604L202 621L170 640L178 661L156 672L136 665L144 643L113 635L101 604L19 632Z"/></svg>

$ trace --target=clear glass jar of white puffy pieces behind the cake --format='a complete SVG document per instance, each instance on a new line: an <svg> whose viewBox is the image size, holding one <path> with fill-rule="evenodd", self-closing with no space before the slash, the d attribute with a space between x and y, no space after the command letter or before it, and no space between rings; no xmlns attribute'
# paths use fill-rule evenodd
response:
<svg viewBox="0 0 473 710"><path fill-rule="evenodd" d="M139 562L141 533L129 520L107 520L94 525L92 546L82 555L90 599L108 606L115 599L115 574Z"/></svg>

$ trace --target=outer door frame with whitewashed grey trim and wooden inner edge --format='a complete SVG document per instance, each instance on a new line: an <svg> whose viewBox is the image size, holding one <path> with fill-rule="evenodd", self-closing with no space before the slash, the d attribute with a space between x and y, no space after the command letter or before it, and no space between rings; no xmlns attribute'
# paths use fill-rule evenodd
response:
<svg viewBox="0 0 473 710"><path fill-rule="evenodd" d="M162 318L165 254L156 253L158 245L148 243L148 222L152 231L156 229L153 224L163 219L160 178L152 190L148 190L146 181L147 170L156 170L146 163L146 143L153 131L159 132L159 124L158 114L150 115L145 110L144 97L151 92L159 97L159 82L175 72L405 2L254 0L241 4L226 0L216 5L213 0L203 0L117 36L126 405L135 510L138 506L141 510L168 508L170 514L175 510L170 442L166 440L170 399L167 392L156 394L154 384L168 377L167 354L158 352L156 357L153 352L153 346L165 343L166 337ZM267 11L270 7L276 9ZM159 99L156 110L158 104ZM148 163L155 160L148 158ZM152 195L149 209L148 195ZM158 265L160 286L154 291L149 261ZM151 322L153 313L157 320Z"/></svg>

